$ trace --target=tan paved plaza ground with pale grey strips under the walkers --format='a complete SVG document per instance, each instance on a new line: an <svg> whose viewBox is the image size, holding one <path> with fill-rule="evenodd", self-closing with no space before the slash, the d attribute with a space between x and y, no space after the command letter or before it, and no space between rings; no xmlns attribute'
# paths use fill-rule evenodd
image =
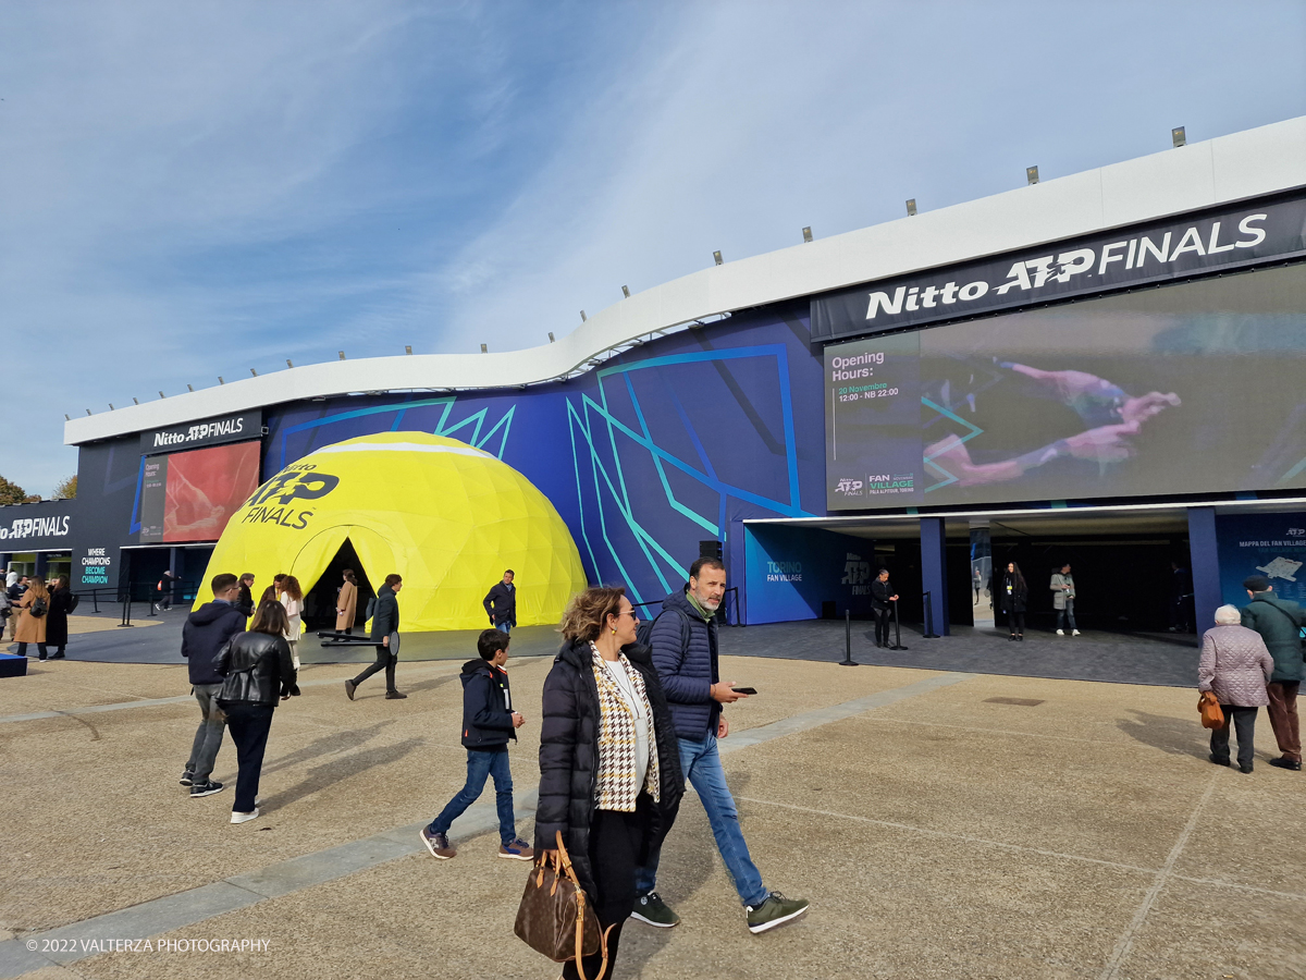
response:
<svg viewBox="0 0 1306 980"><path fill-rule="evenodd" d="M509 665L526 838L549 666ZM456 860L418 843L464 776L458 664L402 662L402 702L379 678L346 700L354 670L306 665L264 815L242 826L230 741L227 791L176 783L197 721L183 665L0 681L0 977L554 980L512 934L526 868L495 857L492 793L454 823ZM722 672L760 690L722 742L744 834L768 886L812 911L748 934L691 793L660 881L684 921L628 924L618 976L1306 975L1306 781L1266 764L1264 715L1245 776L1207 762L1192 689L778 657ZM95 953L146 937L266 949Z"/></svg>

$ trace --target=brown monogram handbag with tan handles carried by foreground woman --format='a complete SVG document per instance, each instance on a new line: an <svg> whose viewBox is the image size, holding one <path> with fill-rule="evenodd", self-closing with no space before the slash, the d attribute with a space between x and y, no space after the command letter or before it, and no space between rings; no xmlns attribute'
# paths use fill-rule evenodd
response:
<svg viewBox="0 0 1306 980"><path fill-rule="evenodd" d="M558 831L558 849L552 857L541 851L526 877L513 932L554 963L575 959L581 980L586 980L581 956L602 951L599 975L607 973L607 934L599 930L585 890L576 879L562 831Z"/></svg>

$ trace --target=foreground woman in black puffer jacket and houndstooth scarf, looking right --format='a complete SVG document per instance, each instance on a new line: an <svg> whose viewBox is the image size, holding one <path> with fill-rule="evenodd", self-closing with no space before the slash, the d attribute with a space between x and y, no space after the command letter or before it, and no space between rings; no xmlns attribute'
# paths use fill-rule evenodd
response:
<svg viewBox="0 0 1306 980"><path fill-rule="evenodd" d="M613 975L635 870L661 845L684 793L671 712L637 626L626 589L586 589L567 608L545 679L535 853L551 857L562 832L607 936L607 967L602 954L585 956L588 980ZM575 960L564 964L563 977L579 976Z"/></svg>

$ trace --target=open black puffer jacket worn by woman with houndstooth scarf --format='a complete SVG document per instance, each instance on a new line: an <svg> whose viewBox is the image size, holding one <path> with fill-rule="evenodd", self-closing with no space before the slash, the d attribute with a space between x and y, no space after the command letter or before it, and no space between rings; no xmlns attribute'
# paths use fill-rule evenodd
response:
<svg viewBox="0 0 1306 980"><path fill-rule="evenodd" d="M662 838L675 821L684 776L680 774L680 747L675 737L666 694L653 669L648 647L632 643L622 652L644 677L644 690L653 708L653 732L657 741L660 796L653 808L645 853L662 845ZM539 806L535 810L535 849L558 847L555 834L571 855L580 885L594 894L594 874L589 865L589 826L597 800L594 783L598 776L598 686L589 643L576 640L563 645L554 659L554 668L545 679L543 723L539 729Z"/></svg>

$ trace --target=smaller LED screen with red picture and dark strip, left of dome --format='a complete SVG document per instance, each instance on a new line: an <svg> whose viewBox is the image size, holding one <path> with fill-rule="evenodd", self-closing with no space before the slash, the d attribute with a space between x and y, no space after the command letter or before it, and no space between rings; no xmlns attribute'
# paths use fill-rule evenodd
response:
<svg viewBox="0 0 1306 980"><path fill-rule="evenodd" d="M141 542L217 541L259 489L259 442L146 456Z"/></svg>

